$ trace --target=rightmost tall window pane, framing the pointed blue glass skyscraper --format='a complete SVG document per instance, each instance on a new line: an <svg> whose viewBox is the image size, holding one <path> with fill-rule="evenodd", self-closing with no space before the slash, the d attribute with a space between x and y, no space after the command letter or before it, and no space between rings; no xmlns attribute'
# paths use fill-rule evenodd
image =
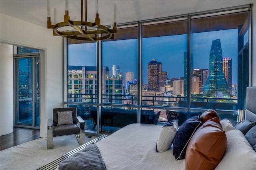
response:
<svg viewBox="0 0 256 170"><path fill-rule="evenodd" d="M247 68L241 68L248 51L240 53L248 48L248 17L248 12L192 17L191 108L242 109L247 81L241 78ZM236 121L236 116L229 116Z"/></svg>

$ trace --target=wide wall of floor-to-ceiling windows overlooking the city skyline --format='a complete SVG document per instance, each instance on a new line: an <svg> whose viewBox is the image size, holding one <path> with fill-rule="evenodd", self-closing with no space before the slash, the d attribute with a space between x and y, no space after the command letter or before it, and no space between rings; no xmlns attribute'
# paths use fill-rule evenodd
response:
<svg viewBox="0 0 256 170"><path fill-rule="evenodd" d="M235 121L236 111L244 108L248 81L249 10L247 6L120 24L114 40L69 40L65 103L95 107L87 113L100 107L102 127L126 121L114 115L113 108L137 113L135 123L142 121L144 110L161 111L159 124L179 117L180 125L209 108ZM83 55L79 59L78 51ZM91 60L94 64L88 65ZM106 117L103 109L109 109ZM95 113L88 116L93 122L89 129L96 130Z"/></svg>

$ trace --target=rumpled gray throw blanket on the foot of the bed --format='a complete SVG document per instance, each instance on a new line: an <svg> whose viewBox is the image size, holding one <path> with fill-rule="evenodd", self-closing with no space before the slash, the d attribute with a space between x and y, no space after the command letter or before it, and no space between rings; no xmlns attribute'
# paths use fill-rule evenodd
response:
<svg viewBox="0 0 256 170"><path fill-rule="evenodd" d="M59 170L106 170L98 147L93 143L62 160Z"/></svg>

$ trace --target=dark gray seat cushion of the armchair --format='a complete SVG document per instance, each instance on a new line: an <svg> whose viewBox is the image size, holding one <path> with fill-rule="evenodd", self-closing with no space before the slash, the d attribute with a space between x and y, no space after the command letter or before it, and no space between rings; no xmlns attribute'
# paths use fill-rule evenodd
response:
<svg viewBox="0 0 256 170"><path fill-rule="evenodd" d="M80 127L77 124L58 125L53 127L52 136L62 136L80 133Z"/></svg>

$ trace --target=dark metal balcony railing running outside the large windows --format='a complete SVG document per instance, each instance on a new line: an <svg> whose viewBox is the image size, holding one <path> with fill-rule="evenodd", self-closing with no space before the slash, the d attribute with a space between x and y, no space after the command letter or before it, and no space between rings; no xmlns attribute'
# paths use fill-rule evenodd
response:
<svg viewBox="0 0 256 170"><path fill-rule="evenodd" d="M96 94L68 94L69 102L97 103ZM121 94L102 94L103 104L138 105L138 96ZM183 96L142 96L142 106L187 107ZM237 110L237 99L191 97L191 108L216 108Z"/></svg>

